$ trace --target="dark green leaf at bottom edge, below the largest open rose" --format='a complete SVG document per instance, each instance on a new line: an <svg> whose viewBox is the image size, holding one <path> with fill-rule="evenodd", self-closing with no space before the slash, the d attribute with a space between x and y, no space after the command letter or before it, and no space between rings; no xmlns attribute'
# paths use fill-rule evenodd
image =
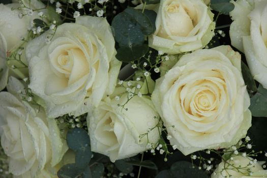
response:
<svg viewBox="0 0 267 178"><path fill-rule="evenodd" d="M175 162L170 167L171 173L174 177L183 177L183 178L209 178L204 171L192 167L192 163L187 161Z"/></svg>

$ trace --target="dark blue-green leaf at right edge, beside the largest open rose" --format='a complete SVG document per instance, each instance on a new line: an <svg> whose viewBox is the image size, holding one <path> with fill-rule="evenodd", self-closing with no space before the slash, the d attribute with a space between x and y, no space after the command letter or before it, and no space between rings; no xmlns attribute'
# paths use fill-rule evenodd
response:
<svg viewBox="0 0 267 178"><path fill-rule="evenodd" d="M255 117L267 117L267 90L259 85L258 93L250 99L249 110Z"/></svg>

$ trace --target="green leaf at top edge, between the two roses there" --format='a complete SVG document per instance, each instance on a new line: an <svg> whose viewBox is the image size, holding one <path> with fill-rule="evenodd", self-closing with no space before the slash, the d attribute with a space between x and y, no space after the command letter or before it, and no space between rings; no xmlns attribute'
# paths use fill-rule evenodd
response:
<svg viewBox="0 0 267 178"><path fill-rule="evenodd" d="M229 12L234 9L234 5L229 2L230 0L211 0L211 8L224 15L229 15Z"/></svg>

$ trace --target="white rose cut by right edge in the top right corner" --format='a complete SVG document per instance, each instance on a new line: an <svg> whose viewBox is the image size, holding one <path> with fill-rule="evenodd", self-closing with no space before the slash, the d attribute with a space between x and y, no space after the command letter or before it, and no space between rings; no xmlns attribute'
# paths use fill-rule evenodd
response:
<svg viewBox="0 0 267 178"><path fill-rule="evenodd" d="M247 63L255 80L267 88L267 2L239 0L230 13L231 43L245 52Z"/></svg>

